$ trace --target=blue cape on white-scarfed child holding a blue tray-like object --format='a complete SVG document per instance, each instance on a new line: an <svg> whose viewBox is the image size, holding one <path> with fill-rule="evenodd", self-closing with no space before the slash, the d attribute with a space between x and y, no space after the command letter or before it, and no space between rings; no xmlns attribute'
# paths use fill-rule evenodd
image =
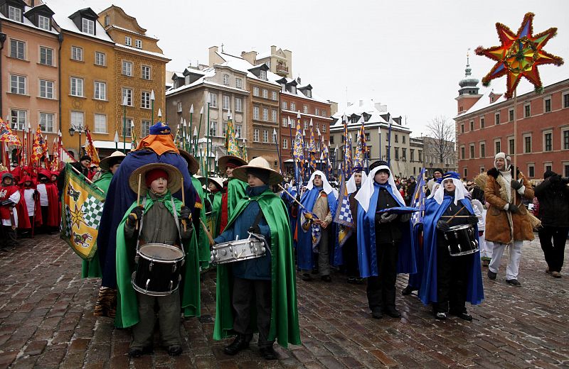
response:
<svg viewBox="0 0 569 369"><path fill-rule="evenodd" d="M393 195L390 186L386 186L387 192L401 204L397 197ZM368 211L364 211L361 204L358 204L358 261L360 265L360 275L362 278L378 275L378 263L376 255L376 208L378 205L379 184L373 184L373 194L369 200ZM396 219L395 222L398 222ZM399 257L397 263L398 273L414 273L417 271L415 266L415 250L411 244L411 221L408 221L408 231L403 231L403 239L399 246Z"/></svg>

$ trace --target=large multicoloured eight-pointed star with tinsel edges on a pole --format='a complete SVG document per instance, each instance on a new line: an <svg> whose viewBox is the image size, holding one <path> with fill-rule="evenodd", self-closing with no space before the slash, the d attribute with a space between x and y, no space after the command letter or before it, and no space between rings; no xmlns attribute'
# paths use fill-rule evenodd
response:
<svg viewBox="0 0 569 369"><path fill-rule="evenodd" d="M507 99L512 97L521 77L526 77L536 90L541 89L538 65L563 64L563 59L542 50L548 40L557 33L557 28L552 27L532 35L533 16L533 13L526 13L517 34L504 24L496 23L496 31L502 44L487 49L480 46L476 49L477 55L486 55L497 61L490 72L482 78L482 84L488 86L492 79L507 75L507 90L504 95Z"/></svg>

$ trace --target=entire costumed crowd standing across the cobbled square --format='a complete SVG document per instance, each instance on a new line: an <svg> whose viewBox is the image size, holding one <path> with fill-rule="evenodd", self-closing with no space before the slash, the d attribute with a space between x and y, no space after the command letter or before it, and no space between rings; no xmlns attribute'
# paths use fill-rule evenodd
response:
<svg viewBox="0 0 569 369"><path fill-rule="evenodd" d="M18 237L59 229L61 197L73 195L66 170L102 189L97 251L83 260L82 277L101 279L95 316L132 329L133 357L154 351L156 321L166 351L182 352L181 316L200 315L200 272L213 268L213 338L235 337L224 349L235 355L258 333L267 360L278 357L275 341L300 343L297 277L332 282L331 271L340 270L349 283L367 285L371 317L381 319L401 316L395 280L405 273L401 293L417 291L435 319L471 321L466 303L484 300L482 268L496 280L506 248L505 281L521 287L523 242L534 230L546 272L561 277L569 180L548 171L533 186L504 153L473 182L440 169L401 180L383 160L368 172L353 163L340 184L320 170L296 181L265 158L237 155L219 158L225 177L202 177L198 160L159 122L127 155L113 153L97 171L90 161L85 155L61 173L4 172L1 250L14 252Z"/></svg>

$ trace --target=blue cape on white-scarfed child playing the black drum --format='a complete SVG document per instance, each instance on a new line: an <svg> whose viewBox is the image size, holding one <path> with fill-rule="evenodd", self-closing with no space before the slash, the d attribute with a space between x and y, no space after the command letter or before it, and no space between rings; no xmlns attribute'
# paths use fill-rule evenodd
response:
<svg viewBox="0 0 569 369"><path fill-rule="evenodd" d="M442 204L435 199L427 199L425 202L425 218L423 218L423 272L419 298L423 304L437 302L437 221L445 213L454 197L445 195ZM460 200L462 205L474 214L472 204L468 199ZM474 234L478 238L478 227L474 226ZM484 299L484 287L482 285L482 272L480 270L480 251L458 258L470 258L470 270L467 282L467 301L473 305L480 304Z"/></svg>

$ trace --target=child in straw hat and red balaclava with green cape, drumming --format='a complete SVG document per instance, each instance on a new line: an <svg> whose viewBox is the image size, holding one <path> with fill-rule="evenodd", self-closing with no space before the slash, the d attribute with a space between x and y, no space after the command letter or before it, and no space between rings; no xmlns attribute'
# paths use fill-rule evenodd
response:
<svg viewBox="0 0 569 369"><path fill-rule="evenodd" d="M134 256L144 243L164 243L186 250L185 274L198 275L195 244L188 246L191 233L191 210L172 193L181 188L181 173L173 165L151 163L132 172L129 185L139 191L140 202L135 202L124 214L117 230L117 326L132 326L129 356L152 353L156 304L161 340L171 356L183 350L180 336L180 292L176 289L166 296L150 296L135 292L131 284ZM139 181L142 182L139 184ZM193 248L192 248L193 247ZM193 252L188 252L192 248ZM192 258L193 256L193 258ZM190 260L191 259L191 260ZM196 269L196 270L193 270ZM197 302L196 302L197 303Z"/></svg>

